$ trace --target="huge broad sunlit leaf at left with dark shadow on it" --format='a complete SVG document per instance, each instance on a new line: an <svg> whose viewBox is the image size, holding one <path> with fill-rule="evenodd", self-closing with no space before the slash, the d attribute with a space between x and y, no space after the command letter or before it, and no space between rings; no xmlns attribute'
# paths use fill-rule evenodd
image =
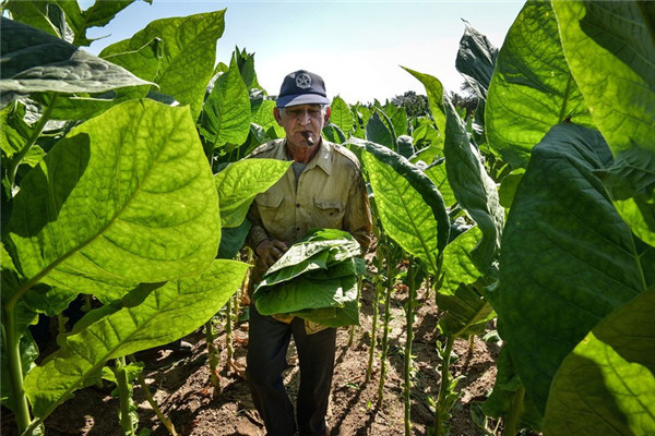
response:
<svg viewBox="0 0 655 436"><path fill-rule="evenodd" d="M198 275L216 255L219 222L189 109L119 105L73 129L22 181L8 229L17 291L44 282L116 298Z"/></svg>

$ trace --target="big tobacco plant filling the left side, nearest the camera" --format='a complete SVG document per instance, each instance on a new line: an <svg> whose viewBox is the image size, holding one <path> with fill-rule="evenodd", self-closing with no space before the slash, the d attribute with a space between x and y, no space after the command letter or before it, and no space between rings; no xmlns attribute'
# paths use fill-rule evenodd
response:
<svg viewBox="0 0 655 436"><path fill-rule="evenodd" d="M248 267L214 259L222 221L238 226L248 201L275 181L233 193L238 181L223 178L231 196L219 198L198 135L224 11L153 22L100 57L60 38L71 31L85 40L80 22L105 24L128 4L9 2L12 19L2 17L2 402L24 434L95 383L106 362L178 339L218 312ZM61 21L44 26L50 16ZM182 63L194 68L191 87L178 76ZM269 164L251 171L279 177ZM35 366L28 325L79 293L103 305Z"/></svg>

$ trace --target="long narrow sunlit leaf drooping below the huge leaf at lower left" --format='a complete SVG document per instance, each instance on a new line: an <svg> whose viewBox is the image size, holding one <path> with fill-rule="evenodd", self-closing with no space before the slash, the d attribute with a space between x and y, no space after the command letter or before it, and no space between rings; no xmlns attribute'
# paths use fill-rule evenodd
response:
<svg viewBox="0 0 655 436"><path fill-rule="evenodd" d="M139 288L122 301L91 312L62 338L61 349L25 378L34 414L47 416L93 382L110 359L168 343L202 326L239 288L247 268L240 262L218 259L200 277L152 291Z"/></svg>

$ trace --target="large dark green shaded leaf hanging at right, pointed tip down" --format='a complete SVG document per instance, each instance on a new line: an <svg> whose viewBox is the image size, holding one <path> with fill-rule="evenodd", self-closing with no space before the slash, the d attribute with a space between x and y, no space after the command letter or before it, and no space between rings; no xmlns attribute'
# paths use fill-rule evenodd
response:
<svg viewBox="0 0 655 436"><path fill-rule="evenodd" d="M533 149L504 228L495 308L541 412L562 360L644 291L655 265L593 173L610 165L598 132L557 125Z"/></svg>

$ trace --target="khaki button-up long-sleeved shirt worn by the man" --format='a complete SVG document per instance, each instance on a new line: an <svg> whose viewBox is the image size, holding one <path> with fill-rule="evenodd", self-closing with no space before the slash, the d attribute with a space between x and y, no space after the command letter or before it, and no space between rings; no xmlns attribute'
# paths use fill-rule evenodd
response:
<svg viewBox="0 0 655 436"><path fill-rule="evenodd" d="M284 138L259 146L250 157L291 160ZM254 198L248 219L252 223L248 237L252 250L264 239L277 239L290 245L312 228L332 228L353 234L364 255L371 242L372 225L357 157L347 148L322 140L297 183L289 167L269 191ZM261 261L257 256L255 259L253 284L264 272Z"/></svg>

